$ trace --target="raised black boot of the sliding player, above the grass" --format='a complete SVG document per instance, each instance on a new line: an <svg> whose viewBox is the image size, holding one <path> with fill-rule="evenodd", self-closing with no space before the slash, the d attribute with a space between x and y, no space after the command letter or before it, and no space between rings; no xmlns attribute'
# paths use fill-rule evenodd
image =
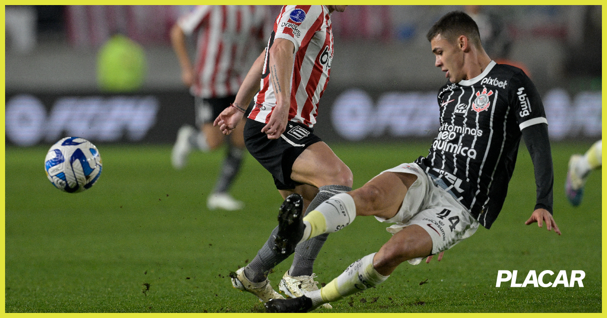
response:
<svg viewBox="0 0 607 318"><path fill-rule="evenodd" d="M280 205L278 214L278 233L274 249L281 254L293 254L297 243L304 236L304 198L293 193Z"/></svg>

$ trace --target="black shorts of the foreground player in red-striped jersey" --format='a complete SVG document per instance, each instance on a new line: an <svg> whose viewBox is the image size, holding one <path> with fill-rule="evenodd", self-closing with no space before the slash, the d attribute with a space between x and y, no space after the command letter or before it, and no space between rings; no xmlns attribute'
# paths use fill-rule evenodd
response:
<svg viewBox="0 0 607 318"><path fill-rule="evenodd" d="M291 121L288 122L287 130L279 139L268 139L268 135L262 133L265 125L253 119L246 119L244 132L246 149L263 168L270 171L278 190L290 190L301 185L291 180L293 163L305 148L322 139L313 133L312 128Z"/></svg>

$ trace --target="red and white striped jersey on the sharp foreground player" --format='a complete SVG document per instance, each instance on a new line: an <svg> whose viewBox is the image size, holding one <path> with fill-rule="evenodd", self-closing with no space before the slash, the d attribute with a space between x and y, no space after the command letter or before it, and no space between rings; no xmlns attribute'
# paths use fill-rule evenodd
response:
<svg viewBox="0 0 607 318"><path fill-rule="evenodd" d="M333 59L333 33L328 8L324 5L285 5L280 10L266 47L256 107L249 114L249 118L258 122L270 121L270 115L276 106L276 95L268 70L268 52L274 39L279 38L288 39L295 45L288 119L313 127L318 102L327 88Z"/></svg>

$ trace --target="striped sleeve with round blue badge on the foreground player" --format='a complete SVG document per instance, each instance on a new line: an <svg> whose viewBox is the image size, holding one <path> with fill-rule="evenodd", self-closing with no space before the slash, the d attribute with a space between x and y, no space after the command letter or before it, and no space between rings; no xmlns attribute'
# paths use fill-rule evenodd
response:
<svg viewBox="0 0 607 318"><path fill-rule="evenodd" d="M305 46L324 24L322 5L287 5L276 21L274 39L287 39L295 45L295 51ZM319 22L320 21L320 22Z"/></svg>

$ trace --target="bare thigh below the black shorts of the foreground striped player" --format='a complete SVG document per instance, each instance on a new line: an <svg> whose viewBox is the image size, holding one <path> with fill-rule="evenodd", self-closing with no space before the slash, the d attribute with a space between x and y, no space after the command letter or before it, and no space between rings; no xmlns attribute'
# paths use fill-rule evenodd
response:
<svg viewBox="0 0 607 318"><path fill-rule="evenodd" d="M324 142L316 142L297 156L291 168L291 179L302 184L352 186L352 171Z"/></svg>

